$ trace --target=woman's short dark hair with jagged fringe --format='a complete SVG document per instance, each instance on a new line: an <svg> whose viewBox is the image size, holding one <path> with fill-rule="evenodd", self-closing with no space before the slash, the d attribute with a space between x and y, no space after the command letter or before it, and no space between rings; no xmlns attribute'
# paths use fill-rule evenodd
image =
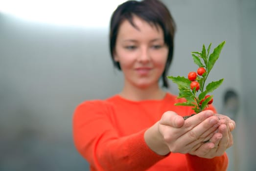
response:
<svg viewBox="0 0 256 171"><path fill-rule="evenodd" d="M138 16L149 24L159 25L163 30L164 43L168 46L168 57L162 74L163 87L168 88L167 72L170 67L173 47L174 33L176 29L175 22L167 9L160 0L129 0L120 4L112 14L110 21L110 52L114 66L121 70L120 64L114 60L116 47L116 37L121 23L129 21L134 27L133 16Z"/></svg>

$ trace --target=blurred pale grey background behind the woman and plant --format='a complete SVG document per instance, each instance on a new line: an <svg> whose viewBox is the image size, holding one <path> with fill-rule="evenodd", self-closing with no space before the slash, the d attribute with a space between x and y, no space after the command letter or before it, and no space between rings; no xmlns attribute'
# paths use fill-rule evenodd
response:
<svg viewBox="0 0 256 171"><path fill-rule="evenodd" d="M225 79L214 92L214 106L222 111L227 89L238 93L229 170L255 171L256 0L163 2L177 23L169 75L196 70L190 52L203 43L215 47L226 41L209 75L212 81ZM96 5L90 8L92 19L105 15ZM73 146L72 115L79 103L122 88L122 74L110 60L108 31L108 25L44 24L0 11L0 171L88 170ZM178 94L170 84L168 91Z"/></svg>

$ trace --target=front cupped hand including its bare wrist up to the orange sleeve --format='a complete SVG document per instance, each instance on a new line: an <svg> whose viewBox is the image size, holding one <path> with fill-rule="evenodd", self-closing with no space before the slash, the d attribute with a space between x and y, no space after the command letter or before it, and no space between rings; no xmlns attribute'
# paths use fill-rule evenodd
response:
<svg viewBox="0 0 256 171"><path fill-rule="evenodd" d="M216 134L219 118L213 111L205 110L186 120L173 111L163 113L162 118L144 133L148 147L159 155L169 152L192 153ZM208 142L210 146L214 143Z"/></svg>

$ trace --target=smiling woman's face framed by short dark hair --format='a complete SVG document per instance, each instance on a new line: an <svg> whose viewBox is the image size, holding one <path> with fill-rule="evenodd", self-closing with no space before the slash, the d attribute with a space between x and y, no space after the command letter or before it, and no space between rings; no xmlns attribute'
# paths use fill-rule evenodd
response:
<svg viewBox="0 0 256 171"><path fill-rule="evenodd" d="M139 88L158 85L168 55L163 30L136 16L133 21L137 28L129 21L121 23L114 59L120 64L126 85Z"/></svg>

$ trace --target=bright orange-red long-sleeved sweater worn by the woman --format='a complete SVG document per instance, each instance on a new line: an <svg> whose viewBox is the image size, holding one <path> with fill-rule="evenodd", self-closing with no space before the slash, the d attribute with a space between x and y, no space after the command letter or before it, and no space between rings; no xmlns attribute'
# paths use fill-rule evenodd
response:
<svg viewBox="0 0 256 171"><path fill-rule="evenodd" d="M134 102L115 95L84 102L73 117L75 147L91 171L226 171L226 153L213 159L181 153L160 156L146 145L144 131L165 111L193 113L191 107L174 106L181 101L167 93L163 100Z"/></svg>

